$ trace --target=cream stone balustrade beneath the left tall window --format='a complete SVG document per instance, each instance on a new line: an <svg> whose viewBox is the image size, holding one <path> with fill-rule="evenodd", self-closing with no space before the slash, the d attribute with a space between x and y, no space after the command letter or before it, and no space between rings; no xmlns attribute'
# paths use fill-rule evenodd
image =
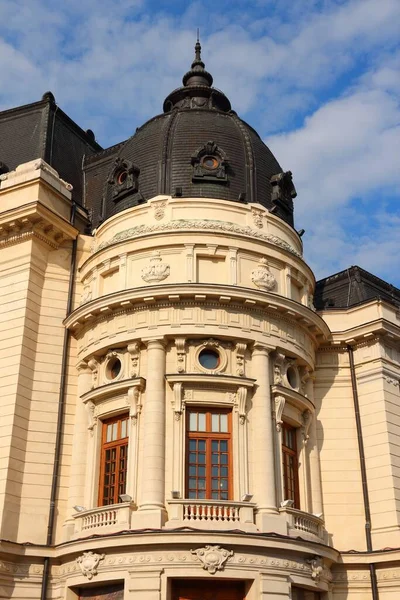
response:
<svg viewBox="0 0 400 600"><path fill-rule="evenodd" d="M131 528L131 513L136 507L132 502L99 506L73 515L75 528L73 539L96 533L116 533Z"/></svg>

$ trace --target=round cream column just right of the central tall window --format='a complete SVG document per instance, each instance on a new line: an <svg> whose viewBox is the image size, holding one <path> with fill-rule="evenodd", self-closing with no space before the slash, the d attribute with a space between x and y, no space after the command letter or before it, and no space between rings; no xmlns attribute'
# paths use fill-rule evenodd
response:
<svg viewBox="0 0 400 600"><path fill-rule="evenodd" d="M276 513L274 435L272 430L270 349L256 344L252 355L253 395L253 489L258 514Z"/></svg>

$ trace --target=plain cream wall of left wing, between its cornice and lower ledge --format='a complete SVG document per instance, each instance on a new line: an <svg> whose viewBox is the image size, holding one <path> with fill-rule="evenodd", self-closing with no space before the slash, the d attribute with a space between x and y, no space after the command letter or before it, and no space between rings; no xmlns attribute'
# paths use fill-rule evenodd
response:
<svg viewBox="0 0 400 600"><path fill-rule="evenodd" d="M14 407L8 407L14 414L1 419L2 427L8 423L3 443L12 461L2 535L17 541L45 542L70 251L70 245L51 251L40 241L30 241L1 252L2 315L7 335L18 333L21 342L11 364L5 352L11 340L5 338L2 344L2 372L9 373L2 380L14 384ZM4 399L2 410L7 410Z"/></svg>

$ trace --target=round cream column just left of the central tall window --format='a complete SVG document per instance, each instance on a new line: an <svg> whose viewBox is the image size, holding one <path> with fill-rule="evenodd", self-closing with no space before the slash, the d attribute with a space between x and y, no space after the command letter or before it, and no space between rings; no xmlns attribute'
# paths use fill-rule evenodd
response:
<svg viewBox="0 0 400 600"><path fill-rule="evenodd" d="M139 510L164 509L165 344L161 339L147 341L147 382L142 431L143 476Z"/></svg>

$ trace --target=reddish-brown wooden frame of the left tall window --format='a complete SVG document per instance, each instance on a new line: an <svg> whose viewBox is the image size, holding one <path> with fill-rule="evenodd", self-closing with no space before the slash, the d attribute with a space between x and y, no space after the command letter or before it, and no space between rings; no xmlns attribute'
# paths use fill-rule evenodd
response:
<svg viewBox="0 0 400 600"><path fill-rule="evenodd" d="M129 437L126 436L121 438L121 426L122 422L129 419L128 414L118 415L116 417L112 417L111 419L107 419L103 421L102 424L102 435L101 435L101 457L100 457L100 476L99 476L99 506L108 506L111 504L118 504L120 502L119 495L125 494L126 492L126 477L128 473L128 442ZM107 442L107 426L112 425L113 423L117 423L117 439L112 442ZM128 432L128 425L127 432ZM116 449L115 453L115 485L114 485L114 493L112 496L105 496L104 488L105 488L105 478L106 478L106 462L107 462L107 451ZM119 463L121 460L121 453L125 452L125 467L122 471L119 471ZM121 474L123 479L121 481ZM110 501L108 501L110 500Z"/></svg>

